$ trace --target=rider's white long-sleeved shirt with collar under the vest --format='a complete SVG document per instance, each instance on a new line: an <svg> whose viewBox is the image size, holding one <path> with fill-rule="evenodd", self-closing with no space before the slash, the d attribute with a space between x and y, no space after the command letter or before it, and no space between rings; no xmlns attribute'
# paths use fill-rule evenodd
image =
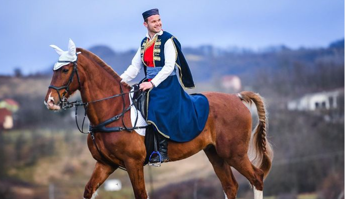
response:
<svg viewBox="0 0 345 199"><path fill-rule="evenodd" d="M161 30L159 33L156 33L152 38L162 34L163 31ZM149 33L146 34L146 37L151 39ZM143 68L144 64L140 56L140 50L141 46L139 47L136 55L133 57L132 64L122 75L120 75L122 81L131 81L140 73L140 70ZM171 38L168 39L168 41L164 44L164 59L165 62L162 70L159 71L158 74L151 80L155 86L158 86L162 81L164 81L175 69L176 52L175 46Z"/></svg>

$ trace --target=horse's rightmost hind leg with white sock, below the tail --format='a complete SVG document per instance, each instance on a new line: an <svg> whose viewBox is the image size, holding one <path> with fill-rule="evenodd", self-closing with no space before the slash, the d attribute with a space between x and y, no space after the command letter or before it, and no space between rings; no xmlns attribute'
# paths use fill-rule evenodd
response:
<svg viewBox="0 0 345 199"><path fill-rule="evenodd" d="M235 153L236 154L236 153ZM244 175L254 186L254 199L263 198L264 172L255 167L248 158L248 155L238 155L227 160L227 163Z"/></svg>

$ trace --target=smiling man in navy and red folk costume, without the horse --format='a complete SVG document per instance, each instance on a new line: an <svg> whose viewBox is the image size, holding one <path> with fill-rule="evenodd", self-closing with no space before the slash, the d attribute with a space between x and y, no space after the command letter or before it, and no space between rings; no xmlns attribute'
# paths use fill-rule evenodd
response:
<svg viewBox="0 0 345 199"><path fill-rule="evenodd" d="M183 88L195 87L192 74L178 40L162 30L158 9L144 12L143 18L148 32L121 78L129 82L144 68L146 78L140 89L148 90L145 119L154 125L161 155L161 159L157 155L150 162L167 162L168 139L186 142L199 135L205 127L209 105L203 94L189 95L184 91Z"/></svg>

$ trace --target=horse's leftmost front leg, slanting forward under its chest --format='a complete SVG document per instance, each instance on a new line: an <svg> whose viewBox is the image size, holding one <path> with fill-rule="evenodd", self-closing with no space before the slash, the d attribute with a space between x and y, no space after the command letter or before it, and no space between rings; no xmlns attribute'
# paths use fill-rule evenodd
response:
<svg viewBox="0 0 345 199"><path fill-rule="evenodd" d="M117 167L112 167L101 162L96 162L91 178L87 182L84 190L84 198L94 198L96 196L97 188L108 178L108 176L116 170Z"/></svg>

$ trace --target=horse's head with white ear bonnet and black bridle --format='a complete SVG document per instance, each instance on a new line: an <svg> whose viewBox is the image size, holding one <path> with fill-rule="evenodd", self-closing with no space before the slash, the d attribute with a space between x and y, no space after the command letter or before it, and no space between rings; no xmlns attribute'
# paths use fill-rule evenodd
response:
<svg viewBox="0 0 345 199"><path fill-rule="evenodd" d="M68 51L63 51L51 45L60 56L54 65L54 74L50 83L44 104L49 110L60 110L63 102L80 87L80 77L77 71L77 52L73 41L70 39Z"/></svg>

